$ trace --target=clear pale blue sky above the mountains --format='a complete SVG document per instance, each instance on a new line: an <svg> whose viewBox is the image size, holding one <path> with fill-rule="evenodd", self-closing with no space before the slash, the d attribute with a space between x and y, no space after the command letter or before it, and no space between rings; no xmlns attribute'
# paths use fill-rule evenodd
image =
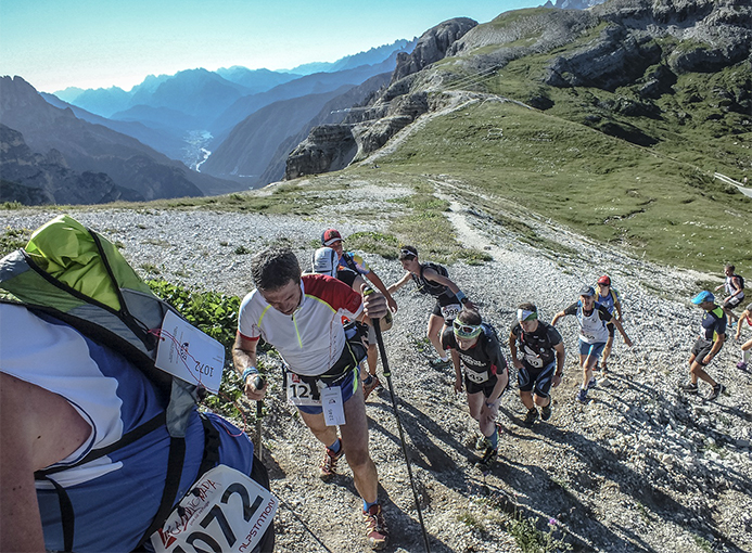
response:
<svg viewBox="0 0 752 553"><path fill-rule="evenodd" d="M486 23L545 0L1 0L0 75L35 88L118 86L181 69L291 68Z"/></svg>

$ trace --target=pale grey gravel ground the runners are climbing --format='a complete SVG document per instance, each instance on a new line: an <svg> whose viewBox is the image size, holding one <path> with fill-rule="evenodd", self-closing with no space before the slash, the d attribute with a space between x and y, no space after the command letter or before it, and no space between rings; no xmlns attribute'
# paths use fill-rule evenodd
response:
<svg viewBox="0 0 752 553"><path fill-rule="evenodd" d="M533 518L543 532L552 528L575 551L752 551L752 376L736 369L739 344L731 337L709 369L727 386L717 401L703 400L710 387L702 383L699 397L677 390L687 378L701 317L689 299L699 291L698 280L713 276L653 266L530 215L527 222L540 235L577 255L536 249L490 222L487 214L462 205L450 183L442 184L443 197L453 202L447 216L458 240L494 257L483 266L453 265L450 276L505 344L519 303L534 301L550 320L576 300L583 284L609 273L622 295L624 325L635 346L627 348L617 336L610 385L591 390L591 401L581 404L575 400L581 380L576 322L563 319L558 327L568 360L564 381L552 393L551 420L523 426L525 409L517 391L505 396L499 461L484 476L469 461L479 434L464 395L453 390L454 370L428 365L433 351L424 333L432 301L411 285L399 291L395 325L384 338L431 550L520 551L507 531L517 512ZM324 228L336 227L345 239L385 230L394 204L384 202L405 193L369 189L371 209L381 206L385 215L368 220L359 220L357 210L334 197L328 213L306 218L157 209L73 215L119 243L141 273L151 270L153 276L242 296L250 290L251 255L239 252L283 237L307 267ZM52 215L4 211L0 224L33 229ZM387 284L403 274L397 261L365 258ZM749 332L743 337L749 339ZM318 479L321 447L285 404L276 371L271 381L264 460L272 490L283 501L276 520L277 550L364 551L360 503L349 468L343 464L343 476L333 483ZM423 551L387 391L374 393L367 409L392 530L387 551Z"/></svg>

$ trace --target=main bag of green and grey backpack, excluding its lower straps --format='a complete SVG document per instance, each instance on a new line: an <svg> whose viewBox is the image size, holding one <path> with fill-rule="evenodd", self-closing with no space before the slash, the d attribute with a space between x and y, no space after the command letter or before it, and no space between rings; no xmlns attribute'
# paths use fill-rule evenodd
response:
<svg viewBox="0 0 752 553"><path fill-rule="evenodd" d="M0 260L0 301L71 324L125 356L160 387L173 381L154 359L164 316L175 309L111 242L67 215L37 229L25 248Z"/></svg>

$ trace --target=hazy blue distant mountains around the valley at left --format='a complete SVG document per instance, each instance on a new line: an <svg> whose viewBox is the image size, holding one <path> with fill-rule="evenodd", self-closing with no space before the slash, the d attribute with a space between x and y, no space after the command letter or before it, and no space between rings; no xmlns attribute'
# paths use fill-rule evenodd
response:
<svg viewBox="0 0 752 553"><path fill-rule="evenodd" d="M332 98L374 75L388 74L396 53L411 49L413 43L400 40L346 56L327 64L326 70L317 74L310 73L313 67L303 67L301 73L244 67L190 69L173 76L150 76L128 92L118 88L72 88L58 94L39 94L21 77L3 77L0 121L15 133L3 132L9 142L1 144L2 150L16 152L14 144L23 143L28 156L22 160L3 154L2 197L23 203L148 201L221 194L258 185L257 177L267 169L280 142L299 132ZM371 61L375 63L369 65L367 62ZM234 182L195 170L203 165L205 146L218 146L246 117L278 102L288 104L269 108L277 115L267 120L260 132L265 140L257 141L264 152L246 156L255 159L253 168L243 167L243 172L228 169L221 163L220 151L219 159L208 167L217 167L217 175L232 177ZM285 108L292 104L296 107ZM264 120L264 115L256 120ZM244 128L250 126L252 123ZM270 131L272 127L276 130ZM224 150L232 152L234 147L231 141ZM76 180L69 173L50 172L43 166L49 165L48 158L66 170L87 176L101 173L110 181L102 181L99 192L78 194L73 190ZM46 178L29 180L18 170L24 164L36 167ZM276 172L281 177L284 159L277 160L277 166ZM243 178L245 171L256 178ZM55 175L60 177L58 181Z"/></svg>

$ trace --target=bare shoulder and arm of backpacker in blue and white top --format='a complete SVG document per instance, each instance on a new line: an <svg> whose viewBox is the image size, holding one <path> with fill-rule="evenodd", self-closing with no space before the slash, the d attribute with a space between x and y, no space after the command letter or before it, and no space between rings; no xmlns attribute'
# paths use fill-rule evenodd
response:
<svg viewBox="0 0 752 553"><path fill-rule="evenodd" d="M34 472L65 459L90 434L62 396L0 373L0 550L44 551Z"/></svg>

